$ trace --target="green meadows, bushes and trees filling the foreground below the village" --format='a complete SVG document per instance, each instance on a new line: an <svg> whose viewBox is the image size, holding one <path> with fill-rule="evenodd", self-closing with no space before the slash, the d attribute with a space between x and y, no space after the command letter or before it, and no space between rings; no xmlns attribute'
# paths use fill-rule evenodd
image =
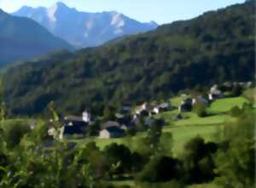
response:
<svg viewBox="0 0 256 188"><path fill-rule="evenodd" d="M113 140L53 141L47 122L32 129L30 120L3 119L0 187L253 187L253 105L237 97L207 111L217 114L171 122L177 110L163 112L170 124Z"/></svg>

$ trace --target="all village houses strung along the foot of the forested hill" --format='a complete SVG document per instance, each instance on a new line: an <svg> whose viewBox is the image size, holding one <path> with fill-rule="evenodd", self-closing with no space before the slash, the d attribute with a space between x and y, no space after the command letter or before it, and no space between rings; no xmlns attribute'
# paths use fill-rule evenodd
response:
<svg viewBox="0 0 256 188"><path fill-rule="evenodd" d="M234 85L239 84L243 88L251 87L253 83L224 83L224 87L232 89ZM174 117L174 120L180 120L183 117L181 112L192 111L193 107L197 104L207 107L212 101L223 98L223 91L218 85L213 85L210 88L209 93L206 96L196 96L194 98L186 98L182 100L178 106L179 114ZM159 105L150 105L145 102L143 105L138 106L135 110L129 105L125 105L115 114L115 121L103 122L100 126L99 139L119 138L124 137L127 128L135 126L141 117L143 117L144 124L150 127L154 121L154 115L159 114L162 111L170 111L175 107L170 102L163 102ZM177 107L176 107L177 108ZM55 128L49 128L49 135L63 139L69 136L76 135L76 137L84 137L86 130L90 124L93 124L93 120L89 111L84 111L81 117L67 116L62 119L63 126L60 131L56 131Z"/></svg>

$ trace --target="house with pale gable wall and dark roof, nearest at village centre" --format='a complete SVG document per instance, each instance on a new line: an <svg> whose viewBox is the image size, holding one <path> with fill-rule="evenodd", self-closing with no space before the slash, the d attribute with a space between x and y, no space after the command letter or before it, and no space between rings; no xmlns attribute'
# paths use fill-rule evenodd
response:
<svg viewBox="0 0 256 188"><path fill-rule="evenodd" d="M117 126L102 129L99 139L120 138L125 136L125 130Z"/></svg>

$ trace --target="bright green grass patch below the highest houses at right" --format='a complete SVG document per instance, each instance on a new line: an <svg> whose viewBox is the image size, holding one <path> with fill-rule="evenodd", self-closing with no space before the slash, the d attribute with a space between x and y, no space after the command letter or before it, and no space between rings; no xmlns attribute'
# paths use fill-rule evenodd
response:
<svg viewBox="0 0 256 188"><path fill-rule="evenodd" d="M216 100L210 106L209 112L211 113L228 112L232 107L236 105L241 108L243 103L248 103L248 100L245 99L244 97L234 97L234 98Z"/></svg>

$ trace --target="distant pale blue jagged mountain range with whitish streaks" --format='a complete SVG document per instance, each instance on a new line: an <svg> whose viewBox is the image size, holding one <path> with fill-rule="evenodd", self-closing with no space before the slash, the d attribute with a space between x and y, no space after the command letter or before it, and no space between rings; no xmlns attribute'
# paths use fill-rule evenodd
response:
<svg viewBox="0 0 256 188"><path fill-rule="evenodd" d="M140 23L117 12L85 13L68 8L64 3L56 3L49 9L22 7L14 13L37 21L78 48L93 47L108 42L115 37L153 30L154 22Z"/></svg>

